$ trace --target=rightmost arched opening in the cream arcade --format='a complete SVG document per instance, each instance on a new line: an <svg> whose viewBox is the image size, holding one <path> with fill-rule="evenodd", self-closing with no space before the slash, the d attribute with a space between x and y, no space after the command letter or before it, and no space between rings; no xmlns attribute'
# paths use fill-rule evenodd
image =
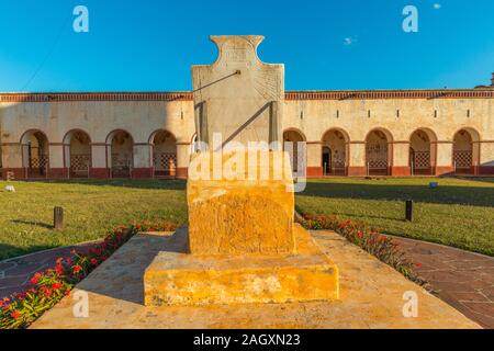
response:
<svg viewBox="0 0 494 351"><path fill-rule="evenodd" d="M457 174L474 174L480 158L480 136L471 128L454 134L453 167Z"/></svg>

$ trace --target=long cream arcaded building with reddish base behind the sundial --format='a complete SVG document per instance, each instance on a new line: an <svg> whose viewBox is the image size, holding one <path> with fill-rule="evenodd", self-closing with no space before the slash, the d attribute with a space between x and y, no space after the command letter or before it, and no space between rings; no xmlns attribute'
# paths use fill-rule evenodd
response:
<svg viewBox="0 0 494 351"><path fill-rule="evenodd" d="M287 91L307 177L494 174L494 75L462 90ZM2 177L187 178L192 92L0 93Z"/></svg>

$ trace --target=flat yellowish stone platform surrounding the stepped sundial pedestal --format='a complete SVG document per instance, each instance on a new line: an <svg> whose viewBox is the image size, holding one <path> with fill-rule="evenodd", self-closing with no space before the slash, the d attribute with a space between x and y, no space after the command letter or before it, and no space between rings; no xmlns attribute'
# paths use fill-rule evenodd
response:
<svg viewBox="0 0 494 351"><path fill-rule="evenodd" d="M145 307L145 269L159 251L183 254L186 244L179 236L138 235L77 286L88 294L87 318L76 318L77 301L66 297L32 328L480 328L337 234L313 235L339 267L340 301ZM405 292L418 296L416 318L403 316Z"/></svg>

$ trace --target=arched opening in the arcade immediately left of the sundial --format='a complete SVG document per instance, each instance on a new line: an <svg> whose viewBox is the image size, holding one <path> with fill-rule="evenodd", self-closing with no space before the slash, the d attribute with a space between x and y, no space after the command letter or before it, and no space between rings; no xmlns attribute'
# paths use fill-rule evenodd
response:
<svg viewBox="0 0 494 351"><path fill-rule="evenodd" d="M167 131L155 132L153 145L153 168L155 177L177 176L177 139Z"/></svg>

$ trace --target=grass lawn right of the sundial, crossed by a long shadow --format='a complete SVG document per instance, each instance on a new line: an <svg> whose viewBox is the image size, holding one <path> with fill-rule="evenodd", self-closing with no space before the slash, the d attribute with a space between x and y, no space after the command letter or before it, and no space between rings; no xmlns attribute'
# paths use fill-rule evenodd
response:
<svg viewBox="0 0 494 351"><path fill-rule="evenodd" d="M429 189L429 182L439 188ZM414 222L404 220L414 200ZM362 222L384 234L494 256L493 179L327 179L296 196L301 213Z"/></svg>

